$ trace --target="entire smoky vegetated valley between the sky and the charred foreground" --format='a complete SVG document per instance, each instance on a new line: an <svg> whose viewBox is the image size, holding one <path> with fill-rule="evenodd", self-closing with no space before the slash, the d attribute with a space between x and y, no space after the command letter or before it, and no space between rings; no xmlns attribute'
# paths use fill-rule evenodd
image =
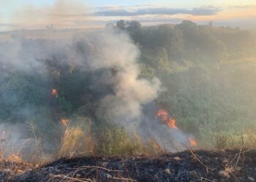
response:
<svg viewBox="0 0 256 182"><path fill-rule="evenodd" d="M72 39L18 37L0 47L4 151L141 154L148 145L185 149L188 138L236 146L241 135L255 144L255 37L247 31L119 21Z"/></svg>

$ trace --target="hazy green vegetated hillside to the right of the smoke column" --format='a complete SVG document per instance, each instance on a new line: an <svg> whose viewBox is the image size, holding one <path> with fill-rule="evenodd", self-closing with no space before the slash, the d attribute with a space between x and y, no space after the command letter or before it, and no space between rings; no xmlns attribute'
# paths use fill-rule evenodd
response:
<svg viewBox="0 0 256 182"><path fill-rule="evenodd" d="M206 133L239 138L248 128L255 131L255 36L190 21L137 25L132 31L131 24L123 29L140 47L141 76L162 81L166 91L157 103L170 111L178 127L202 142L212 137Z"/></svg>

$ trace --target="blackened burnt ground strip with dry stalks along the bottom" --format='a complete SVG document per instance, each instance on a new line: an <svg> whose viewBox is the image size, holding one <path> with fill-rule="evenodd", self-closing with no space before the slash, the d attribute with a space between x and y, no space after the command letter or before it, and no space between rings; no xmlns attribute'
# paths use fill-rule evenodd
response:
<svg viewBox="0 0 256 182"><path fill-rule="evenodd" d="M256 150L182 151L159 157L59 159L32 169L1 162L0 181L255 181Z"/></svg>

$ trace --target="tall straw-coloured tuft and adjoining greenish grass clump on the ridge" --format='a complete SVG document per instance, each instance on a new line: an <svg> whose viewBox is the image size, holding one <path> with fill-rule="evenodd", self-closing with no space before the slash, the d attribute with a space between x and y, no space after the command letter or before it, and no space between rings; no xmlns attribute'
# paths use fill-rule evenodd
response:
<svg viewBox="0 0 256 182"><path fill-rule="evenodd" d="M92 132L91 120L68 124L61 139L58 158L96 156L135 156L163 154L164 149L149 138L143 141L134 130L129 133L124 127L115 125L97 128Z"/></svg>

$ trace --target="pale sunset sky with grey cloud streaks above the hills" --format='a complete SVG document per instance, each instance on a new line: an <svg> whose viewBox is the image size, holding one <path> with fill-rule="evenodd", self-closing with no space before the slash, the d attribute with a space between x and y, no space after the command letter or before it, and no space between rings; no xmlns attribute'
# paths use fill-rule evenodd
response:
<svg viewBox="0 0 256 182"><path fill-rule="evenodd" d="M0 31L54 28L94 28L117 20L143 25L213 21L256 29L255 0L0 0Z"/></svg>

